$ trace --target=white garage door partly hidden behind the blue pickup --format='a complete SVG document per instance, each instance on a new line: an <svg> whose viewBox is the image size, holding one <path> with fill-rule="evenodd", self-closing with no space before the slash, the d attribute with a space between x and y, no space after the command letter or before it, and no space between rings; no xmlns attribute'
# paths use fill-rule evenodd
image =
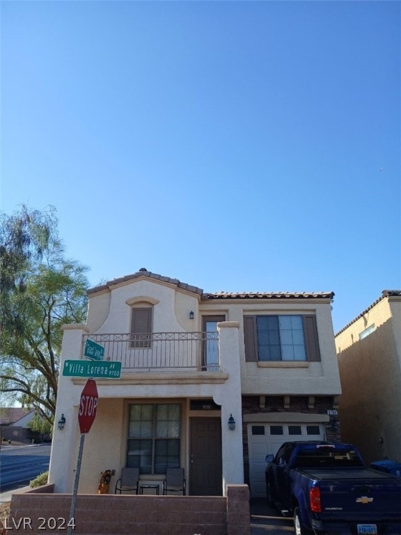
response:
<svg viewBox="0 0 401 535"><path fill-rule="evenodd" d="M265 457L276 455L283 442L324 440L322 424L248 424L249 480L251 497L266 496Z"/></svg>

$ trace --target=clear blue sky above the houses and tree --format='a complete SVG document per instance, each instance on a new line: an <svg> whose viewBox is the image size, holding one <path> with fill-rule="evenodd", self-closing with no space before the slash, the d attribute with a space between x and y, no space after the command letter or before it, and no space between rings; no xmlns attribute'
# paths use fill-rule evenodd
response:
<svg viewBox="0 0 401 535"><path fill-rule="evenodd" d="M401 288L399 1L1 1L1 210L101 281ZM382 169L382 170L381 170Z"/></svg>

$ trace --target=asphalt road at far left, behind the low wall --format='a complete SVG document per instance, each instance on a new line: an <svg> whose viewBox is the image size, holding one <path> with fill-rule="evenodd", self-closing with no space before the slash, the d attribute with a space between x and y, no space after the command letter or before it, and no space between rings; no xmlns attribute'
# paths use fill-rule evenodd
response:
<svg viewBox="0 0 401 535"><path fill-rule="evenodd" d="M50 444L1 446L0 493L29 485L49 469Z"/></svg>

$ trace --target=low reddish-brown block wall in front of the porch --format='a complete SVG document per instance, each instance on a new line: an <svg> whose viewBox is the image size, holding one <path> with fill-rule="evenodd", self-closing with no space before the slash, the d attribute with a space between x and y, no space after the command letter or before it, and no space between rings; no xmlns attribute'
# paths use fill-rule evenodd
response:
<svg viewBox="0 0 401 535"><path fill-rule="evenodd" d="M56 527L62 519L68 522L70 506L71 495L15 494L8 529L15 535L65 535L66 525L55 529L49 519L56 520ZM31 521L29 529L26 519ZM74 520L72 533L79 535L249 535L249 488L229 485L227 497L78 495ZM45 529L39 531L40 524Z"/></svg>

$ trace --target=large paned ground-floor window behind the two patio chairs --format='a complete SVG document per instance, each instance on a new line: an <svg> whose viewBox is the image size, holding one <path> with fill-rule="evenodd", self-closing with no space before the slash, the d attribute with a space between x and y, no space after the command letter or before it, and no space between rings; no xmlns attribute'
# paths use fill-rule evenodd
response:
<svg viewBox="0 0 401 535"><path fill-rule="evenodd" d="M178 403L129 405L127 466L141 474L180 467L180 422Z"/></svg>

